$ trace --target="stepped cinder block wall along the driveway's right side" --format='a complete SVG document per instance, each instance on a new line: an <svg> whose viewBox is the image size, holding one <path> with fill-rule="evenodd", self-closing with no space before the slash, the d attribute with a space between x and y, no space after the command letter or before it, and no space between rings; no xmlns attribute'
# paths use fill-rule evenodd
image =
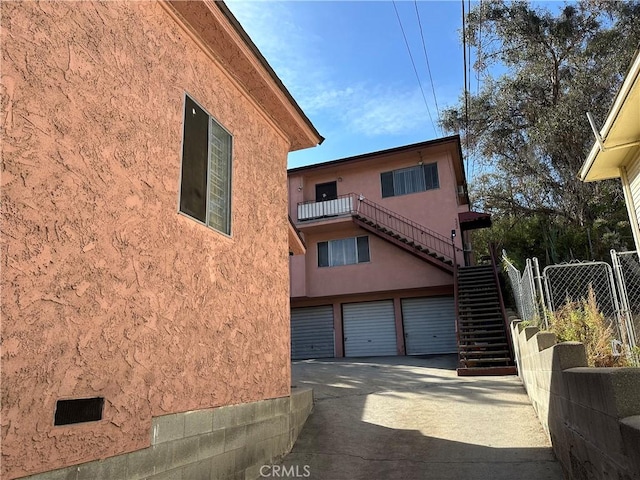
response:
<svg viewBox="0 0 640 480"><path fill-rule="evenodd" d="M582 343L511 333L518 372L569 479L640 479L640 369L588 368Z"/></svg>

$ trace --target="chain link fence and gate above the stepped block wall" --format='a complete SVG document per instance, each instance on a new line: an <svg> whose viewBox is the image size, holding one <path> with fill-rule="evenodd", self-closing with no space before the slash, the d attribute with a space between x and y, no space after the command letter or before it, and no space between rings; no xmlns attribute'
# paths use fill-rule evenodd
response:
<svg viewBox="0 0 640 480"><path fill-rule="evenodd" d="M612 250L611 259L613 268L606 262L570 262L549 265L541 274L533 258L520 274L506 252L502 257L521 319L548 328L545 309L556 312L593 294L617 340L633 351L640 340L640 257Z"/></svg>

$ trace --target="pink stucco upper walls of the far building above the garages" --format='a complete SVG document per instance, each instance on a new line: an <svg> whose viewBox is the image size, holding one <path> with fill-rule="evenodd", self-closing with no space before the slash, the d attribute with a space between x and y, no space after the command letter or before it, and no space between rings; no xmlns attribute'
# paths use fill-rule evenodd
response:
<svg viewBox="0 0 640 480"><path fill-rule="evenodd" d="M437 162L440 187L426 192L382 198L380 173ZM297 205L315 201L315 186L337 182L338 195L356 193L404 217L424 225L449 238L452 229L458 232L456 245L462 249L458 212L468 211L468 205L458 205L456 178L451 154L444 146L418 151L400 152L372 158L355 164L333 165L317 170L289 174L289 214L297 220ZM296 297L323 297L341 294L382 292L453 284L453 277L437 267L418 259L376 235L358 228L349 217L343 221L299 222L305 233L307 253L304 263L291 260L291 292ZM317 242L349 236L368 235L371 262L358 265L318 268ZM464 261L462 252L458 261Z"/></svg>

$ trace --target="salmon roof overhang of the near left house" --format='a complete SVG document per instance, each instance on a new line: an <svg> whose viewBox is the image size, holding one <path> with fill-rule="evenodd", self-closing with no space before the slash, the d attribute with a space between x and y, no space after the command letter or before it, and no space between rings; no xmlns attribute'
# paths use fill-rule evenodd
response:
<svg viewBox="0 0 640 480"><path fill-rule="evenodd" d="M290 151L322 143L324 138L224 2L164 0L161 4L288 138Z"/></svg>

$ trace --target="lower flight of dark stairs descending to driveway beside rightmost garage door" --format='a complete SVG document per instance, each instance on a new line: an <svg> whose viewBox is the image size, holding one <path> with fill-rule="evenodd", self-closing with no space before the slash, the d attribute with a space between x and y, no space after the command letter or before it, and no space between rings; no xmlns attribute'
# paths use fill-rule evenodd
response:
<svg viewBox="0 0 640 480"><path fill-rule="evenodd" d="M494 265L457 269L458 375L515 375Z"/></svg>

